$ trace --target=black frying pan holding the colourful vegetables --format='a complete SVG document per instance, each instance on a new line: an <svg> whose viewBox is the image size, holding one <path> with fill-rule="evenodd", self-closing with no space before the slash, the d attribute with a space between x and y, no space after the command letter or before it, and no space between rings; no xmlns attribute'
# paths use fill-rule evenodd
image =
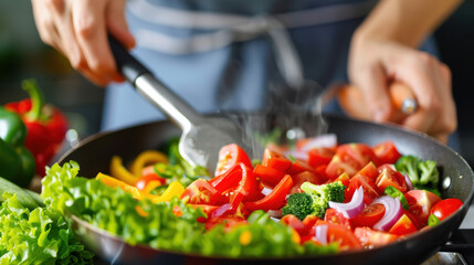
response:
<svg viewBox="0 0 474 265"><path fill-rule="evenodd" d="M278 115L265 116L272 126L280 126ZM468 163L455 151L432 138L404 129L328 116L329 132L337 134L339 144L366 142L375 145L392 140L402 153L411 153L423 159L432 159L442 167L441 183L443 198L457 198L464 205L455 214L439 225L415 233L403 241L372 250L345 252L337 255L296 258L221 258L172 253L147 246L130 246L119 239L92 225L75 220L75 231L87 247L99 257L113 264L420 264L438 252L457 231L473 199L474 172ZM157 121L117 131L104 132L84 140L78 148L66 153L61 161L75 160L81 166L81 176L95 177L98 171L107 172L112 156L118 155L124 161L131 161L145 149L157 149L180 131L169 121Z"/></svg>

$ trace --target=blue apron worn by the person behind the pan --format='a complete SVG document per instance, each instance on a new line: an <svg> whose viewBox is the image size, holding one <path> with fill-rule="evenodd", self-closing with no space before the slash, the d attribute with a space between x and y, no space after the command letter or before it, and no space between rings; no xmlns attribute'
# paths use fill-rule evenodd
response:
<svg viewBox="0 0 474 265"><path fill-rule="evenodd" d="M131 53L200 113L256 110L280 84L347 82L370 0L129 0ZM436 54L432 39L421 50ZM276 88L275 88L276 87ZM340 112L336 103L325 112ZM107 87L103 130L162 119L127 84Z"/></svg>

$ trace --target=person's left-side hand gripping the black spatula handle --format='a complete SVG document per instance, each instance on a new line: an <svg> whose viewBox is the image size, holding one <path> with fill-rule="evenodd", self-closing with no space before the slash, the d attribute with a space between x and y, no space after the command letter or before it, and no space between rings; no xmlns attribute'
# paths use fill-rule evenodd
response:
<svg viewBox="0 0 474 265"><path fill-rule="evenodd" d="M122 82L107 32L130 49L135 39L125 20L125 0L32 0L41 40L99 86Z"/></svg>

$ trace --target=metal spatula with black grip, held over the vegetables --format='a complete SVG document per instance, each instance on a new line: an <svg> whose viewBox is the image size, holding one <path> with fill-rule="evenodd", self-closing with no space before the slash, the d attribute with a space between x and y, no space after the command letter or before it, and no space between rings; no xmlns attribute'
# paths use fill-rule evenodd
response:
<svg viewBox="0 0 474 265"><path fill-rule="evenodd" d="M207 117L160 82L138 62L117 40L108 38L118 71L136 91L158 107L181 130L179 151L193 166L203 166L213 173L219 150L228 144L236 144L250 156L252 149L243 141L241 126L232 119Z"/></svg>

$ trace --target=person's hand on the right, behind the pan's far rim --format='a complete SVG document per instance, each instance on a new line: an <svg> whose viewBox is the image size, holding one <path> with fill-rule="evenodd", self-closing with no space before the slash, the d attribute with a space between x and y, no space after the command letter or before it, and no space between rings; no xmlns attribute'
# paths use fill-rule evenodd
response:
<svg viewBox="0 0 474 265"><path fill-rule="evenodd" d="M366 107L378 123L398 123L447 142L456 129L456 109L449 67L432 55L396 42L355 35L349 53L349 78L365 95ZM405 118L392 117L388 85L397 81L411 87L419 107ZM349 114L350 115L350 114Z"/></svg>

